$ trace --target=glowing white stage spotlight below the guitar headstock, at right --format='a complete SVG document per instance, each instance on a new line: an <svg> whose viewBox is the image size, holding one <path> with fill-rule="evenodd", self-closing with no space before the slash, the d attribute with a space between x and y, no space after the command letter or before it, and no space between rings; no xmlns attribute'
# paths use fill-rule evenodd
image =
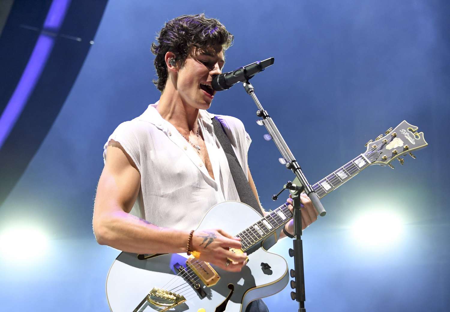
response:
<svg viewBox="0 0 450 312"><path fill-rule="evenodd" d="M388 246L395 243L403 231L403 222L395 213L373 212L359 217L352 230L360 244Z"/></svg>

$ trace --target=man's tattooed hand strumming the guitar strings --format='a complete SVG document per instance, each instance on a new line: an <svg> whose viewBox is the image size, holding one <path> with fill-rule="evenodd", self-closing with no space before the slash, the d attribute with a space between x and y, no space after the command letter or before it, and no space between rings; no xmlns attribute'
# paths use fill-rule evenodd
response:
<svg viewBox="0 0 450 312"><path fill-rule="evenodd" d="M246 264L246 253L233 253L229 250L242 248L240 238L220 229L194 231L191 248L200 253L200 260L210 262L225 271L239 272ZM230 262L225 266L228 258L235 263Z"/></svg>

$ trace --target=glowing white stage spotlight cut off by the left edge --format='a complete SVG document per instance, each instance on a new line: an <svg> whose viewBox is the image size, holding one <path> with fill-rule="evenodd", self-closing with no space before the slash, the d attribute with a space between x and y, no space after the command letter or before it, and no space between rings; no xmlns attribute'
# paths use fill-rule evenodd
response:
<svg viewBox="0 0 450 312"><path fill-rule="evenodd" d="M48 248L46 235L36 228L18 226L1 231L0 258L6 261L19 261L22 259L43 256Z"/></svg>

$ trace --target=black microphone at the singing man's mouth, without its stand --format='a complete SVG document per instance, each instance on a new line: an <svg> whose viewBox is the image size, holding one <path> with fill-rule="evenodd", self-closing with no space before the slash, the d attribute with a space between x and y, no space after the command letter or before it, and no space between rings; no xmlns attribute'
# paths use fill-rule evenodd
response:
<svg viewBox="0 0 450 312"><path fill-rule="evenodd" d="M245 82L255 76L258 72L262 72L264 68L272 65L274 60L274 58L270 58L265 59L264 61L257 61L244 67L241 66L236 68L232 72L224 72L220 75L213 76L211 86L216 91L228 90L236 82Z"/></svg>

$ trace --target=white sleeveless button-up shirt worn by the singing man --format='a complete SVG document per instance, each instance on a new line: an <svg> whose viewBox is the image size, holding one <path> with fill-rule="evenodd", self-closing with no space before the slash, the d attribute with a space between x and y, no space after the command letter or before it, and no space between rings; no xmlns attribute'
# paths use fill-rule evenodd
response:
<svg viewBox="0 0 450 312"><path fill-rule="evenodd" d="M139 117L121 123L109 136L133 159L141 176L138 199L130 213L157 226L191 230L216 203L239 201L225 152L214 135L211 118L225 128L234 153L248 179L247 152L252 140L234 117L199 110L199 125L211 161L214 179L198 153L151 104ZM219 225L218 225L219 226Z"/></svg>

